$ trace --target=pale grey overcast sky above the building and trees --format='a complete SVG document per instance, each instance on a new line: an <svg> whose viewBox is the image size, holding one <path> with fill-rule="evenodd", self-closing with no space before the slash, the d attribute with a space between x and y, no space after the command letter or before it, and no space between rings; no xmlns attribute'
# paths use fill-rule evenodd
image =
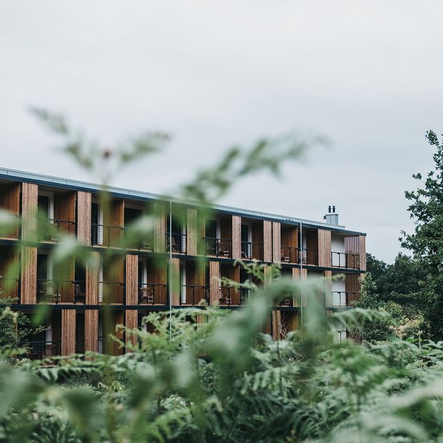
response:
<svg viewBox="0 0 443 443"><path fill-rule="evenodd" d="M90 179L55 152L30 106L63 112L104 145L171 134L164 154L114 181L151 192L234 143L324 134L329 150L220 203L316 220L335 204L391 262L400 230L413 229L410 176L432 168L424 135L443 132L442 17L437 0L3 0L0 165Z"/></svg>

